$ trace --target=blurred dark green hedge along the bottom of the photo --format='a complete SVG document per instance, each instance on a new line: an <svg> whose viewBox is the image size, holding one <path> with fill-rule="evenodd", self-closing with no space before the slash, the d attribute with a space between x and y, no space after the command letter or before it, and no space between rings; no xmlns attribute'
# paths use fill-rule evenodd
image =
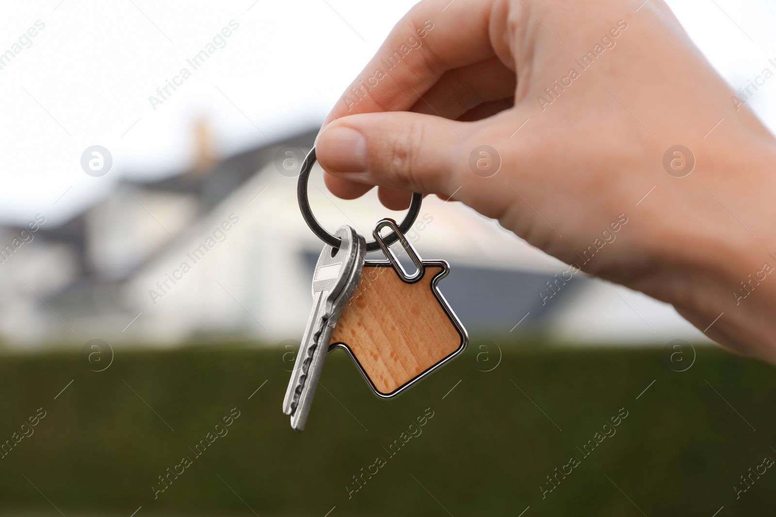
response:
<svg viewBox="0 0 776 517"><path fill-rule="evenodd" d="M282 414L289 374L277 348L117 348L102 372L89 371L78 354L5 354L0 439L19 443L0 459L0 511L773 512L776 469L752 477L739 498L734 488L764 457L776 458L773 367L711 348L696 347L695 364L676 372L659 348L499 344L494 370L482 371L497 364L496 346L475 340L392 401L372 395L344 353L331 353L301 434ZM200 440L208 446L197 456ZM182 474L154 498L168 468ZM547 477L564 470L551 485ZM355 491L353 477L365 471L371 478L364 474Z"/></svg>

